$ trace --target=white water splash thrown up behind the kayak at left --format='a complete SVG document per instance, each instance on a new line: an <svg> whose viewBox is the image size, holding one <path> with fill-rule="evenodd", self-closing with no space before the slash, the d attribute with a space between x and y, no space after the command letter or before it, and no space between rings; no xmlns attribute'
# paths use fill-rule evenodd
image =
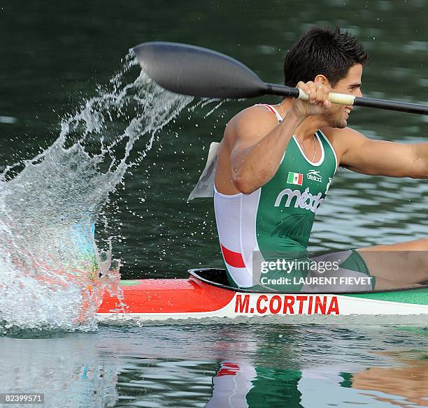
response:
<svg viewBox="0 0 428 408"><path fill-rule="evenodd" d="M109 195L161 129L192 98L166 92L133 52L98 96L62 120L55 142L0 175L0 328L94 330L103 291L115 291L119 263L94 238ZM108 220L104 219L104 228ZM101 278L99 278L101 276Z"/></svg>

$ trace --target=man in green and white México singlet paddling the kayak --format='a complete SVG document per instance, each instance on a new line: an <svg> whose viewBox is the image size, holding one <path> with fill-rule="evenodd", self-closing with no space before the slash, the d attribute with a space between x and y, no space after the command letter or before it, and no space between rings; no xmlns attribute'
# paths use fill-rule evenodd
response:
<svg viewBox="0 0 428 408"><path fill-rule="evenodd" d="M362 96L367 60L350 34L313 28L284 62L285 85L299 87L309 101L255 105L227 124L217 154L214 204L232 285L358 291L428 281L428 264L419 253L428 249L427 239L317 258L306 250L338 166L367 175L428 178L428 143L370 140L347 127L352 106L328 101L329 92ZM336 282L320 285L314 280L320 275Z"/></svg>

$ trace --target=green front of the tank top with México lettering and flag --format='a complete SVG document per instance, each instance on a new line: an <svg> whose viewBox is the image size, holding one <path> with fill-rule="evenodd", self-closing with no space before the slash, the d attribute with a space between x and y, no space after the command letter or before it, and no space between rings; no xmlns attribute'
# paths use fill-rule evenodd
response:
<svg viewBox="0 0 428 408"><path fill-rule="evenodd" d="M256 233L262 254L306 253L315 212L324 201L337 166L327 137L317 131L315 138L322 150L318 163L306 158L292 136L276 174L261 189Z"/></svg>

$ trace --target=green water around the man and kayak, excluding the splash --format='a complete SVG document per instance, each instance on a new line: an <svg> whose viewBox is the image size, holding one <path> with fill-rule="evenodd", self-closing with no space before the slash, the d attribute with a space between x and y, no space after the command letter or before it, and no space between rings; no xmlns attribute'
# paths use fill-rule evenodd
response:
<svg viewBox="0 0 428 408"><path fill-rule="evenodd" d="M0 168L50 146L60 118L94 96L144 41L203 45L282 82L284 54L301 31L338 24L369 51L365 96L427 103L427 13L426 0L2 3ZM183 112L125 176L112 197L120 212L111 214L124 278L185 277L188 268L222 265L212 201L186 198L209 143L257 101L223 103L208 117L197 110L191 120ZM416 143L425 141L428 121L361 108L349 124L371 138ZM425 180L338 171L310 249L424 238L427 193ZM45 392L47 407L424 406L427 336L401 329L242 324L0 337L0 393Z"/></svg>

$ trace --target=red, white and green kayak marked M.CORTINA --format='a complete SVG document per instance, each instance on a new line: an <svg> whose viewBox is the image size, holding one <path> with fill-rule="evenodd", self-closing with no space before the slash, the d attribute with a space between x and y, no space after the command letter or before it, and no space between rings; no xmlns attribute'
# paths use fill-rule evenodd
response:
<svg viewBox="0 0 428 408"><path fill-rule="evenodd" d="M122 280L122 299L105 293L99 321L255 316L420 315L428 319L428 285L346 293L255 293L228 286L222 269L192 269L188 279ZM425 320L426 321L426 320Z"/></svg>

